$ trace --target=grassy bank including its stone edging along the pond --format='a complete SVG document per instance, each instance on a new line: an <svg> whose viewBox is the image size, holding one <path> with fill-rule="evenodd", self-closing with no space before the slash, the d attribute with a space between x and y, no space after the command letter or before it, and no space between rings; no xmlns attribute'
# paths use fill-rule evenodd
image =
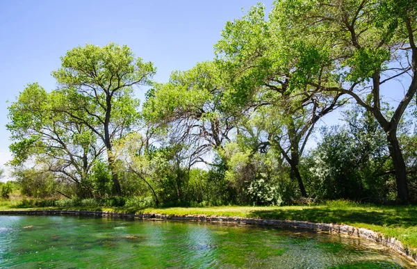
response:
<svg viewBox="0 0 417 269"><path fill-rule="evenodd" d="M227 221L272 224L307 229L322 229L330 232L345 231L344 234L361 236L366 229L374 231L368 238L385 245L400 241L402 250L417 259L417 206L377 206L346 201L327 202L306 206L216 206L205 208L136 209L134 207L72 207L72 208L29 208L19 209L17 204L0 204L6 211L90 211L99 215L136 215L137 218L166 218L178 220ZM12 213L12 212L10 212ZM22 212L23 213L23 212ZM35 212L33 212L35 213ZM70 212L68 212L70 213ZM269 223L268 223L269 221ZM275 222L274 222L275 221ZM287 222L283 222L287 221ZM289 222L288 222L289 221ZM323 225L325 224L325 225ZM332 225L331 225L332 224ZM345 227L347 225L349 227ZM359 229L358 229L359 228ZM366 236L361 236L366 238ZM393 247L395 249L395 247Z"/></svg>

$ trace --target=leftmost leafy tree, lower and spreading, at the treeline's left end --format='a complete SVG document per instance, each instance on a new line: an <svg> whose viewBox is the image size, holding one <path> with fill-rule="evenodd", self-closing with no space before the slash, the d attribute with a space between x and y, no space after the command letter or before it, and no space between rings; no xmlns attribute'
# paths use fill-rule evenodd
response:
<svg viewBox="0 0 417 269"><path fill-rule="evenodd" d="M29 163L53 172L76 184L77 195L88 197L85 181L104 147L85 124L56 113L56 108L68 101L60 92L48 93L38 83L26 86L8 108L7 128L14 141L10 164L20 167Z"/></svg>

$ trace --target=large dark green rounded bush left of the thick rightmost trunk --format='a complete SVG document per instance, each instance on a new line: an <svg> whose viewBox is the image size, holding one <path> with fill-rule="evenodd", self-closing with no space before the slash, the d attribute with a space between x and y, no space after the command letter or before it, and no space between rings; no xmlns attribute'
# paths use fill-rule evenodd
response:
<svg viewBox="0 0 417 269"><path fill-rule="evenodd" d="M395 192L393 175L385 173L391 169L391 160L384 133L374 122L357 121L352 117L346 127L322 129L322 142L304 158L306 188L313 197L395 199L390 195Z"/></svg>

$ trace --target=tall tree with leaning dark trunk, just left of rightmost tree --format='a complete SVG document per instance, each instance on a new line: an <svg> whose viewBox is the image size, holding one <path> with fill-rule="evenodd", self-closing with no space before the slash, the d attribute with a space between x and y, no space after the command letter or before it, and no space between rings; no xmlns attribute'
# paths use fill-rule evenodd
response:
<svg viewBox="0 0 417 269"><path fill-rule="evenodd" d="M246 111L249 117L261 107L268 108L268 137L263 147L276 147L281 152L306 197L300 157L316 122L343 101L339 101L340 93L318 93L318 87L304 83L320 71L307 69L309 61L324 59L303 47L289 51L288 43L277 34L274 22L265 19L265 7L259 4L241 19L227 22L215 51L223 72L231 78L224 102L231 109ZM295 60L297 54L304 53L311 53L312 58Z"/></svg>

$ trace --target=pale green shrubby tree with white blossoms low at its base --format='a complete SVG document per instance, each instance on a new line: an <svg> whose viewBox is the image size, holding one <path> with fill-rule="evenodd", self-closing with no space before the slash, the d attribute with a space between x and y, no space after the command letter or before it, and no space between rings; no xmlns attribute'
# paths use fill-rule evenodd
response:
<svg viewBox="0 0 417 269"><path fill-rule="evenodd" d="M265 106L241 120L238 134L220 152L227 159L225 181L234 190L230 199L238 203L280 204L298 196L297 181L288 182L288 165L276 147L270 147L265 122L271 120ZM288 184L289 183L289 184ZM294 186L294 188L292 188ZM290 195L288 195L290 194Z"/></svg>

